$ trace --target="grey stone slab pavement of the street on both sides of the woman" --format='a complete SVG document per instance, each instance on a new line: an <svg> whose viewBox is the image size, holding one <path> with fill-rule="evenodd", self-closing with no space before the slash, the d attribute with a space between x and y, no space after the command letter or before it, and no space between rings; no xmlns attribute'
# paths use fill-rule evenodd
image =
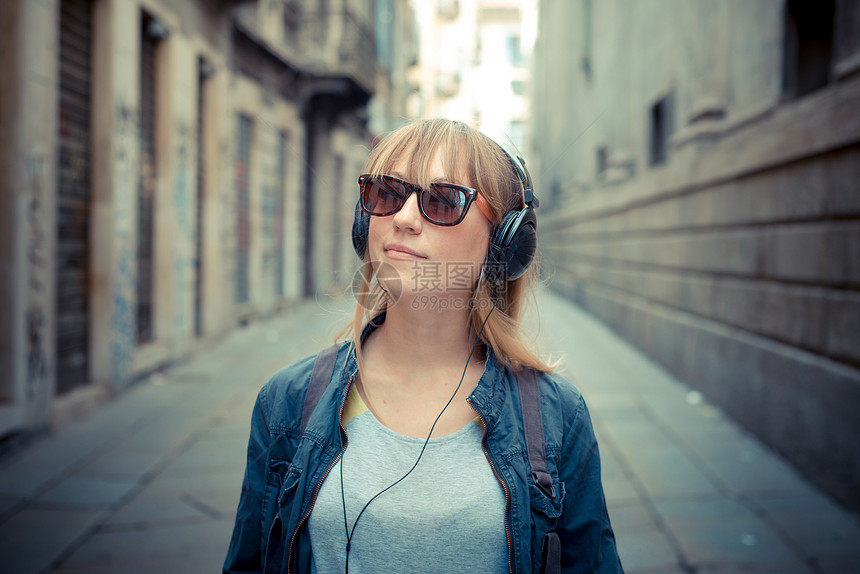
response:
<svg viewBox="0 0 860 574"><path fill-rule="evenodd" d="M217 572L250 411L348 304L251 325L0 460L0 572ZM628 574L860 572L860 525L717 409L549 292L541 347L591 407Z"/></svg>

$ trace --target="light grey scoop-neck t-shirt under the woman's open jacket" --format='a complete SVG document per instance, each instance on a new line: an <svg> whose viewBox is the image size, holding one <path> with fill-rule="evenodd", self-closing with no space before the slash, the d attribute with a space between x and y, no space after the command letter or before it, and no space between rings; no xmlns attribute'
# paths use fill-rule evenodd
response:
<svg viewBox="0 0 860 574"><path fill-rule="evenodd" d="M358 393L353 388L350 395L352 400ZM412 468L424 444L384 426L368 410L345 429L347 449L323 482L308 521L319 574L345 569L341 471L351 529L365 503ZM412 474L361 516L349 553L350 574L507 571L505 495L484 456L482 437L481 426L471 421L430 439Z"/></svg>

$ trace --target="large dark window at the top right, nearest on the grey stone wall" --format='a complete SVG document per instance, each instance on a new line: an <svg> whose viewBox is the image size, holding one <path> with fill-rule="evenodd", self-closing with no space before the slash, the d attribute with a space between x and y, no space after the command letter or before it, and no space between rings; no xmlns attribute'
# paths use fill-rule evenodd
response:
<svg viewBox="0 0 860 574"><path fill-rule="evenodd" d="M804 96L824 87L833 68L833 0L785 3L782 93Z"/></svg>

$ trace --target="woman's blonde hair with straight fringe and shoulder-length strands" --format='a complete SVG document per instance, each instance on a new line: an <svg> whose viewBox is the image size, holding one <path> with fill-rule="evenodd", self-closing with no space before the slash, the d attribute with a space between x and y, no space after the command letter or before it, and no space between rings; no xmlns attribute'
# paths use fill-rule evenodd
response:
<svg viewBox="0 0 860 574"><path fill-rule="evenodd" d="M465 177L466 185L477 189L493 213L490 237L512 209L522 209L522 183L505 152L489 137L462 123L444 119L421 120L407 124L386 135L373 149L365 168L366 173L381 175L390 173L403 158L408 159L408 173L404 177L422 187L429 185L428 171L437 150L442 150L442 165L445 172ZM463 169L466 169L463 172ZM494 297L494 289L482 273L472 294L471 324L475 333L481 333L481 342L493 350L496 357L514 371L531 367L540 371L551 371L556 366L544 362L523 341L521 319L528 296L534 297L537 280L537 262L529 266L526 273L506 282L498 296L496 308L487 319ZM357 274L360 285L353 285L358 302L355 315L341 332L353 334L356 355L361 364L361 330L382 312L388 309L388 294L371 282L373 269L365 254L364 266ZM486 324L481 330L481 324Z"/></svg>

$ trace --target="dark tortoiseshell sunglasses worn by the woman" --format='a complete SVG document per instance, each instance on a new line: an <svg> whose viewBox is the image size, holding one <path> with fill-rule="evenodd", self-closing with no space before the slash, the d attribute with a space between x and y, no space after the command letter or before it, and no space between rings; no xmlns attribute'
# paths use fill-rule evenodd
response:
<svg viewBox="0 0 860 574"><path fill-rule="evenodd" d="M364 174L358 178L361 209L370 215L385 216L400 211L409 194L418 194L418 211L434 225L457 225L466 217L474 201L484 216L492 221L492 210L477 190L456 183L430 184L430 189L392 175Z"/></svg>

